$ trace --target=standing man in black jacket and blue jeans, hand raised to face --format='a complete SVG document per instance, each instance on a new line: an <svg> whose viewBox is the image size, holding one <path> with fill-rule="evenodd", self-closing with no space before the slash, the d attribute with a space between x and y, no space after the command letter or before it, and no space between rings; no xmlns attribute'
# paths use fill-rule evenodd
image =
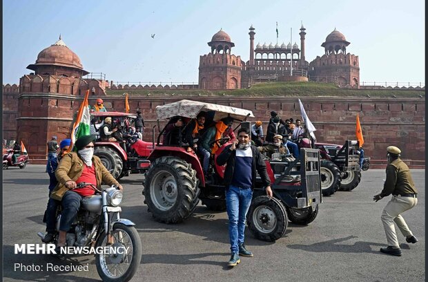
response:
<svg viewBox="0 0 428 282"><path fill-rule="evenodd" d="M240 263L240 256L253 256L244 246L246 214L253 198L256 171L266 187L266 194L272 197L271 181L266 172L262 154L251 145L249 129L241 128L237 132L237 141L224 148L217 157L217 164L226 164L224 185L226 185L226 209L228 215L229 239L231 241L231 259L229 266Z"/></svg>

